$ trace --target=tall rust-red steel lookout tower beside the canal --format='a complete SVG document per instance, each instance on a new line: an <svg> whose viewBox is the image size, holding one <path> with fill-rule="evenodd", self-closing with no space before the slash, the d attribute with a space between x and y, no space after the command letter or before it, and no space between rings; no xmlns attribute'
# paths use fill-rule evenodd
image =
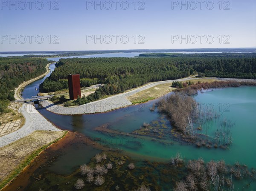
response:
<svg viewBox="0 0 256 191"><path fill-rule="evenodd" d="M68 88L70 93L70 100L77 99L78 96L81 97L81 88L80 88L80 75L75 74L71 75L69 74L67 76L68 80Z"/></svg>

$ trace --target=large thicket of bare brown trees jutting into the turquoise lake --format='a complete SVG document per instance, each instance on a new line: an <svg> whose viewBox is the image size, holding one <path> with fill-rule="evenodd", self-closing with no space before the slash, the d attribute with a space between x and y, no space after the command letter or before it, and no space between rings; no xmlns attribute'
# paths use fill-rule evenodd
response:
<svg viewBox="0 0 256 191"><path fill-rule="evenodd" d="M231 129L235 125L231 120L220 120L221 115L216 111L208 111L202 104L184 93L175 93L167 98L163 98L157 103L158 111L166 113L182 134L189 140L202 140L204 144L211 148L212 143L215 147L227 147L232 143ZM211 127L217 127L214 134L209 133ZM205 134L198 134L198 130L204 128ZM192 138L192 139L191 139Z"/></svg>

